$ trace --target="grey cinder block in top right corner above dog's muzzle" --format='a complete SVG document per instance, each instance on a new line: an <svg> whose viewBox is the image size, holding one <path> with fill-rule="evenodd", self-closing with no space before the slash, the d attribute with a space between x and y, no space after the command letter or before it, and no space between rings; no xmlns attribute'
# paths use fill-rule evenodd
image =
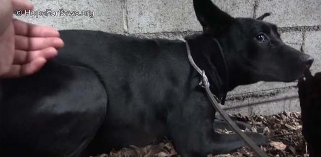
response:
<svg viewBox="0 0 321 157"><path fill-rule="evenodd" d="M279 27L321 25L321 0L258 0L256 17L265 12Z"/></svg>

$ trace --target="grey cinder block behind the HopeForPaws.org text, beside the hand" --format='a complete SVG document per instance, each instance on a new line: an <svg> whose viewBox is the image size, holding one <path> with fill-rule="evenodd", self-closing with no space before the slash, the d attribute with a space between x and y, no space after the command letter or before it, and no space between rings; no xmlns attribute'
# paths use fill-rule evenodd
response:
<svg viewBox="0 0 321 157"><path fill-rule="evenodd" d="M89 29L101 30L111 33L123 33L123 15L121 0L31 0L35 11L94 11L94 17L89 16L40 16L18 18L23 21L38 25L51 26L58 30L65 29ZM91 12L92 13L92 12ZM91 14L92 15L92 14Z"/></svg>

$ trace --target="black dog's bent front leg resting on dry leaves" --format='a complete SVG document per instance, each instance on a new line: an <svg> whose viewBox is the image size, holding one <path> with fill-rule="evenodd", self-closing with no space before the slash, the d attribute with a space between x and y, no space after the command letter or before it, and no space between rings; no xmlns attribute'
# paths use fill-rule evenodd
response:
<svg viewBox="0 0 321 157"><path fill-rule="evenodd" d="M170 138L182 157L206 157L208 154L227 154L244 147L237 134L219 134L213 130L214 108L207 97L198 96L177 105L169 114ZM257 145L267 145L266 137L247 133Z"/></svg>

